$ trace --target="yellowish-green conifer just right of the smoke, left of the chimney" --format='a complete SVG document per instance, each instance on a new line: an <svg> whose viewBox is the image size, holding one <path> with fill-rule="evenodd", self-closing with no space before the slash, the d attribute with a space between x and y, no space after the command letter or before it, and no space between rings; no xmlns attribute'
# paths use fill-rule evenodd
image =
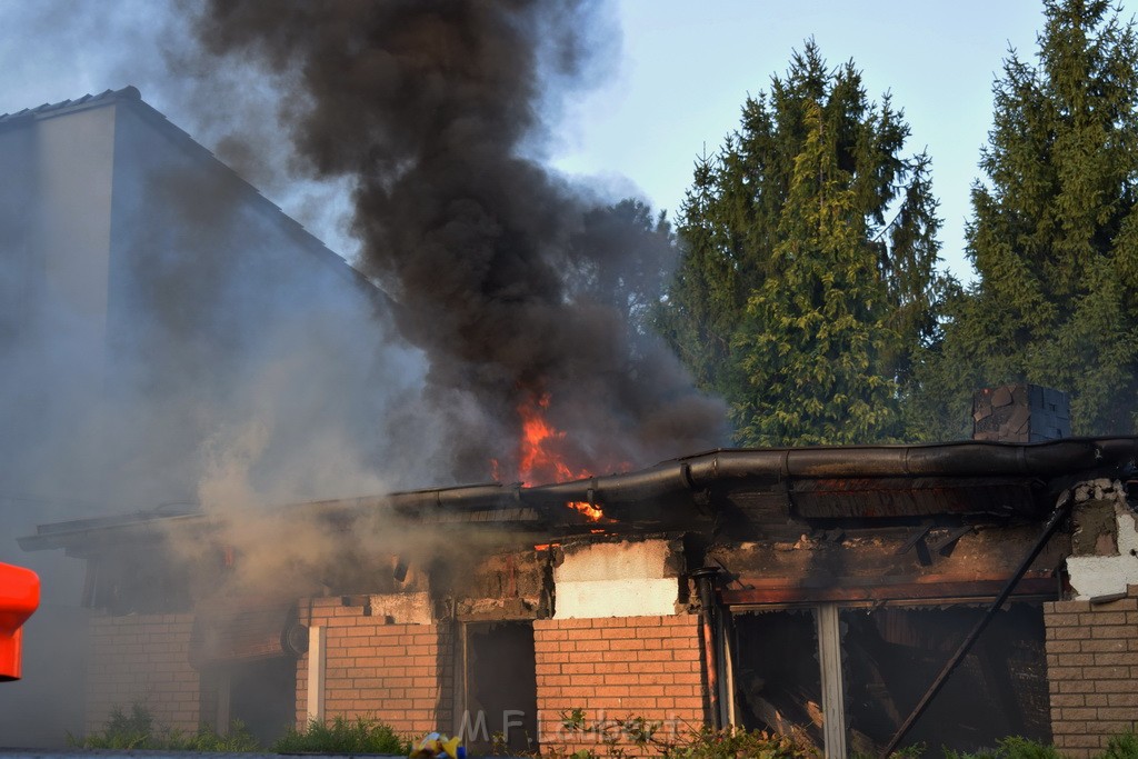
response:
<svg viewBox="0 0 1138 759"><path fill-rule="evenodd" d="M748 98L740 129L696 163L683 254L658 324L736 440L885 440L947 282L926 156L868 100L852 63L811 41Z"/></svg>

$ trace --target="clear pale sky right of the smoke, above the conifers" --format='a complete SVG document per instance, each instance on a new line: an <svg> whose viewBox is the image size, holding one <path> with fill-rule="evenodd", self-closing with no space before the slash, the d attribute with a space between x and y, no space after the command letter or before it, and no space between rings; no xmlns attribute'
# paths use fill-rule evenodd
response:
<svg viewBox="0 0 1138 759"><path fill-rule="evenodd" d="M1122 6L1125 18L1138 9ZM905 112L906 152L932 157L945 266L973 277L964 225L992 83L1009 48L1033 59L1039 2L625 0L619 23L616 71L572 105L555 165L638 189L674 216L695 158L723 145L748 94L769 91L770 76L784 74L792 51L813 36L831 65L853 60L873 100L890 92Z"/></svg>

